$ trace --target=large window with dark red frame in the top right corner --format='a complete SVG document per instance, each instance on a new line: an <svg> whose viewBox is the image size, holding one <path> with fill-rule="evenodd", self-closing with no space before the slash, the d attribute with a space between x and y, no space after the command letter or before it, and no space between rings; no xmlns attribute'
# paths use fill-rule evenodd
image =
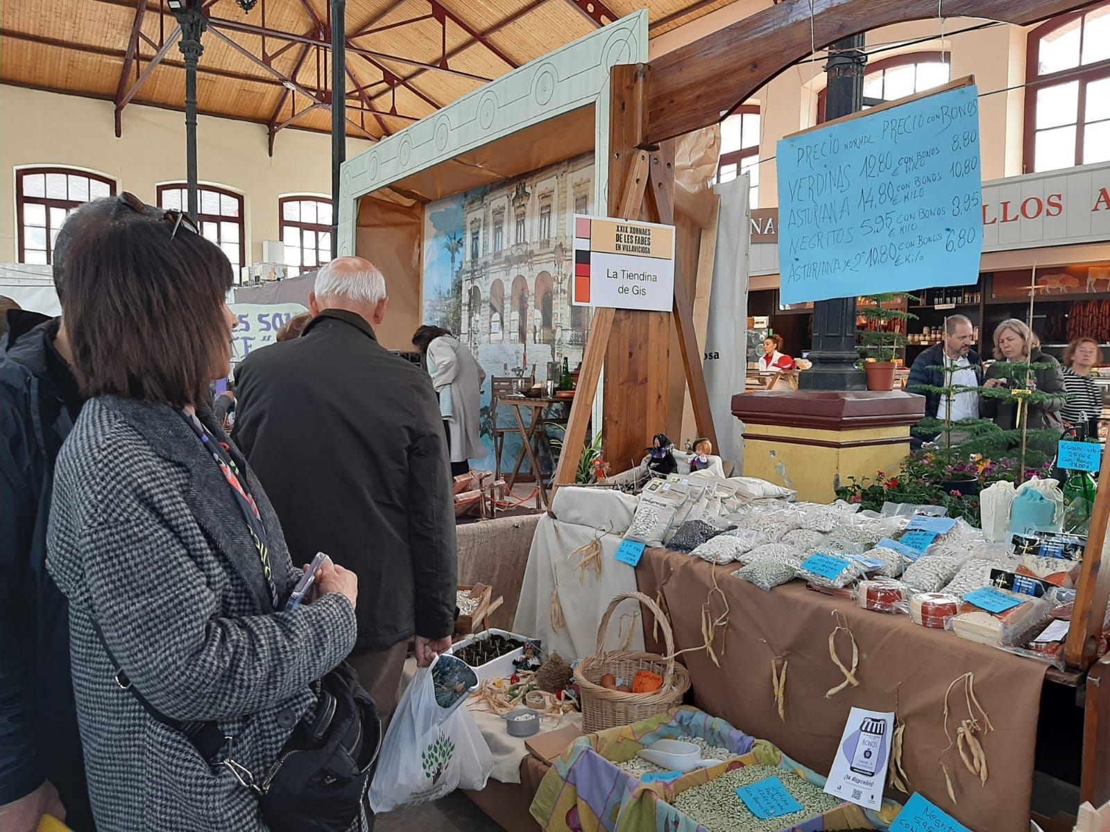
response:
<svg viewBox="0 0 1110 832"><path fill-rule="evenodd" d="M1029 33L1026 171L1110 160L1110 3Z"/></svg>

